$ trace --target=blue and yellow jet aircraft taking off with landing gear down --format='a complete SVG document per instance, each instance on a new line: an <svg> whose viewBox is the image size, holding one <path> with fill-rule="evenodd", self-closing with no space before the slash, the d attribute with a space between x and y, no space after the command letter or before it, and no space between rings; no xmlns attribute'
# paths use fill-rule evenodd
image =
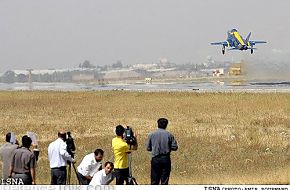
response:
<svg viewBox="0 0 290 190"><path fill-rule="evenodd" d="M251 50L251 54L254 52L254 45L267 43L266 41L250 41L251 32L246 39L243 39L242 36L236 29L228 31L228 38L223 42L213 42L211 45L222 45L222 53L225 54L225 49L228 47L228 50Z"/></svg>

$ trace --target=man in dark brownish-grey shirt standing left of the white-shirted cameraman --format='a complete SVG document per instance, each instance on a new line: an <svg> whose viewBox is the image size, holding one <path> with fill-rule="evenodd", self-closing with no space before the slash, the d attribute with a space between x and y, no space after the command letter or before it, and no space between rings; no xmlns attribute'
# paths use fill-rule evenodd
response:
<svg viewBox="0 0 290 190"><path fill-rule="evenodd" d="M29 150L31 143L32 140L24 135L22 137L22 147L16 149L12 154L9 177L21 179L24 185L35 185L36 158Z"/></svg>

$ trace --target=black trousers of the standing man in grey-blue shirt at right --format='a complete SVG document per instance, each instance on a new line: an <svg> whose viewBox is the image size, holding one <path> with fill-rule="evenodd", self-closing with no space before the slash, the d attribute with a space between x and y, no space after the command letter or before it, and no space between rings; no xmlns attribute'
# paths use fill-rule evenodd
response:
<svg viewBox="0 0 290 190"><path fill-rule="evenodd" d="M170 155L159 155L151 160L151 185L168 185L171 172Z"/></svg>

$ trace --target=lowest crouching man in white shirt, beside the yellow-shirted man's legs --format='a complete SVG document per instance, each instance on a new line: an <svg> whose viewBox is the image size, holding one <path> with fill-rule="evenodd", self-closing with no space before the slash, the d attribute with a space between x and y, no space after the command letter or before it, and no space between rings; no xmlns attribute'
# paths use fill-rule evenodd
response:
<svg viewBox="0 0 290 190"><path fill-rule="evenodd" d="M98 171L89 185L96 186L96 185L109 185L111 181L114 179L113 174L114 164L112 162L106 162L105 168Z"/></svg>

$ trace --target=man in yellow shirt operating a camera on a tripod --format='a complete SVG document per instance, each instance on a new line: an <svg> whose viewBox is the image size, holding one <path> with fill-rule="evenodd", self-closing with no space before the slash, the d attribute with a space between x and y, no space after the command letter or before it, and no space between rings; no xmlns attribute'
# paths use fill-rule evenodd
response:
<svg viewBox="0 0 290 190"><path fill-rule="evenodd" d="M112 149L115 158L115 176L116 176L116 185L123 185L124 181L128 185L129 177L129 162L128 154L131 153L131 150L137 150L138 143L137 139L133 136L134 142L128 144L124 140L125 128L122 125L116 127L116 137L112 140ZM129 139L131 140L131 139Z"/></svg>

